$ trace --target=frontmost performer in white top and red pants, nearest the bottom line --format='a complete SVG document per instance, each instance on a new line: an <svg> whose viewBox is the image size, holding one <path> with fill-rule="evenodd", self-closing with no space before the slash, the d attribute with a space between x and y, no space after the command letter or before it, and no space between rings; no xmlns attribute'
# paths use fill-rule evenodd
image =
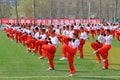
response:
<svg viewBox="0 0 120 80"><path fill-rule="evenodd" d="M69 44L66 46L66 51L68 52L68 65L70 69L70 74L68 75L69 77L72 77L76 72L74 67L74 57L79 44L80 41L78 39L78 34L74 32L73 37L69 38Z"/></svg>

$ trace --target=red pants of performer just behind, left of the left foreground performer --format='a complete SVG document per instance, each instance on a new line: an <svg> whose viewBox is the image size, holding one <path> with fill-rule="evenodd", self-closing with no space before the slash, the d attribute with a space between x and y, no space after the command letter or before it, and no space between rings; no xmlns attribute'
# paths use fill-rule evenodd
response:
<svg viewBox="0 0 120 80"><path fill-rule="evenodd" d="M42 56L42 45L44 44L46 44L46 40L37 40L35 42L34 54L36 54L37 51L39 51L40 56Z"/></svg>

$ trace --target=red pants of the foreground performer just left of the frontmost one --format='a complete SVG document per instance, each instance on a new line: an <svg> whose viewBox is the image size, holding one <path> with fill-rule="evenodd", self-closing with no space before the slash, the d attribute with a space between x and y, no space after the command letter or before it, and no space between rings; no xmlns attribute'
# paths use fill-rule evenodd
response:
<svg viewBox="0 0 120 80"><path fill-rule="evenodd" d="M50 68L54 69L53 60L54 60L56 48L53 45L47 44L47 45L43 45L42 49L47 53Z"/></svg>

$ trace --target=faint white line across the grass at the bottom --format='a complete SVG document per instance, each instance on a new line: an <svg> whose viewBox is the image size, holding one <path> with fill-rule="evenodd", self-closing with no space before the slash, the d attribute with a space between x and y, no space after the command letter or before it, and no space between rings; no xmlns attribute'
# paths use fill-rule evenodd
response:
<svg viewBox="0 0 120 80"><path fill-rule="evenodd" d="M0 76L1 79L22 79L22 78L66 78L68 76ZM120 76L73 76L79 78L120 78Z"/></svg>

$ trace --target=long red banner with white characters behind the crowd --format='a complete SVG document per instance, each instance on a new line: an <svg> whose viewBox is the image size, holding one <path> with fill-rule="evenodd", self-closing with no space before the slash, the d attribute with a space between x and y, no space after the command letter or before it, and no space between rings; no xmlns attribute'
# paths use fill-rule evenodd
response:
<svg viewBox="0 0 120 80"><path fill-rule="evenodd" d="M36 24L73 24L73 23L100 23L100 19L37 19L36 20ZM24 24L29 24L29 23L34 23L33 19L19 19L18 20L19 23L24 23ZM16 23L16 19L10 19L10 18L3 18L2 19L2 24L6 24L6 23L11 23L11 24L15 24Z"/></svg>

